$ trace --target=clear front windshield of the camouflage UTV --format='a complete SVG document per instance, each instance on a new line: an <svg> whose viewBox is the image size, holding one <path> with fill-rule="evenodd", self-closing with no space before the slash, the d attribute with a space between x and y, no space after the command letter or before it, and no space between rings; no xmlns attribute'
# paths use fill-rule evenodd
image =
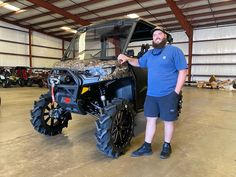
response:
<svg viewBox="0 0 236 177"><path fill-rule="evenodd" d="M67 48L63 60L116 59L123 51L133 23L90 26L77 32Z"/></svg>

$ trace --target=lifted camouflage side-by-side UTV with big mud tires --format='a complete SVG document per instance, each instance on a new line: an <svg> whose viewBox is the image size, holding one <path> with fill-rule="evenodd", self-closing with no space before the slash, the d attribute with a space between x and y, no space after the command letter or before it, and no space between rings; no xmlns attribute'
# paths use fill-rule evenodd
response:
<svg viewBox="0 0 236 177"><path fill-rule="evenodd" d="M133 137L135 114L143 109L147 71L121 65L117 56L144 54L137 49L152 40L154 27L142 19L121 19L79 28L51 70L49 92L34 103L35 130L57 135L68 126L71 113L91 114L96 117L97 148L112 158L124 154ZM179 111L181 104L182 97Z"/></svg>

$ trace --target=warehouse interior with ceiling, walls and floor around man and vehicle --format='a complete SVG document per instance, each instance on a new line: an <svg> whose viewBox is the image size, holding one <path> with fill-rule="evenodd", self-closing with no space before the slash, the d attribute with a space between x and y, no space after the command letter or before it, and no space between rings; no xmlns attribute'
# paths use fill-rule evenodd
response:
<svg viewBox="0 0 236 177"><path fill-rule="evenodd" d="M96 118L89 114L72 114L68 128L56 136L35 131L30 123L34 101L50 89L48 74L77 29L130 15L163 26L188 63L171 157L159 158L161 121L153 155L130 157L143 142L142 111L135 116L126 153L118 158L96 148ZM234 0L1 0L1 71L22 69L37 79L7 85L1 77L0 176L235 177L235 17ZM134 41L127 49L137 55L142 44L152 41Z"/></svg>

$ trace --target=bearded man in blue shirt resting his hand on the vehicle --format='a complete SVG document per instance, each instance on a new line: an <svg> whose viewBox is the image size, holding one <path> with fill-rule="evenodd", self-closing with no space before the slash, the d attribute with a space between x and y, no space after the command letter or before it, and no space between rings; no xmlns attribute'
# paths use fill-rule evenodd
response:
<svg viewBox="0 0 236 177"><path fill-rule="evenodd" d="M174 132L174 121L178 118L179 93L187 75L187 64L183 52L174 46L171 35L162 27L152 30L153 49L141 58L131 58L124 54L118 56L122 64L126 61L132 66L148 69L148 89L144 103L144 115L147 118L145 142L131 156L151 155L151 143L156 131L156 121L164 121L164 144L160 153L161 159L171 154L171 139Z"/></svg>

